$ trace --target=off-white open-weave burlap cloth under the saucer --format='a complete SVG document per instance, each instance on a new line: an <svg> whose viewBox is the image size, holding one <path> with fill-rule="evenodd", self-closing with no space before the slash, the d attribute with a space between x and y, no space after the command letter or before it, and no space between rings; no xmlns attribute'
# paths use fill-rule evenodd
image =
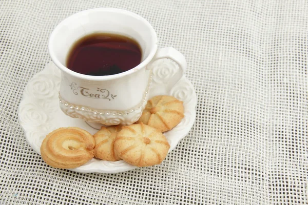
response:
<svg viewBox="0 0 308 205"><path fill-rule="evenodd" d="M186 56L197 117L161 165L53 169L18 125L52 29L97 7L140 14ZM0 204L307 204L307 61L304 1L0 1Z"/></svg>

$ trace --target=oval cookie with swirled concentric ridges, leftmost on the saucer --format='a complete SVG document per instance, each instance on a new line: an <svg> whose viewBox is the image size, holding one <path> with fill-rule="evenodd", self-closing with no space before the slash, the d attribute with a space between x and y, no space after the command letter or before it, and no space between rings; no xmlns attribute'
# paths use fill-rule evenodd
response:
<svg viewBox="0 0 308 205"><path fill-rule="evenodd" d="M87 131L76 127L59 128L43 140L41 155L51 167L72 169L94 157L94 146L94 138Z"/></svg>

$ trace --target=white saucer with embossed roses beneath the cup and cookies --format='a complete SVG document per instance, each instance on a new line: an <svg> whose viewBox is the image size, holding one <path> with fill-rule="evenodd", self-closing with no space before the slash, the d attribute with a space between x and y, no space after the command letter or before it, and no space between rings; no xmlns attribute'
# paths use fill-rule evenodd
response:
<svg viewBox="0 0 308 205"><path fill-rule="evenodd" d="M156 62L155 62L156 63ZM153 68L153 81L149 90L149 98L156 95L172 95L184 103L184 118L172 130L164 135L170 144L169 152L175 149L178 142L184 138L194 124L196 118L197 97L194 87L183 76L171 89L168 82L174 75L171 61L157 60L157 67ZM60 127L80 127L94 134L98 130L90 127L85 121L65 115L59 107L59 88L61 72L53 63L37 73L25 88L24 96L18 108L18 120L25 131L26 140L35 152L40 153L40 147L45 136ZM119 173L136 169L132 165L121 161L110 162L93 158L85 165L70 169L82 173Z"/></svg>

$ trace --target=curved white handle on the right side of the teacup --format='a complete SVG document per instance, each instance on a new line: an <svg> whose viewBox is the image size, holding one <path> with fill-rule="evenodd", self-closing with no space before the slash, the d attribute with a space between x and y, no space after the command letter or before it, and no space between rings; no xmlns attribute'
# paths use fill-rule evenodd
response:
<svg viewBox="0 0 308 205"><path fill-rule="evenodd" d="M176 49L172 47L165 47L165 48L161 48L157 50L155 56L153 57L151 61L151 64L154 63L156 60L162 59L162 58L169 58L175 61L175 63L177 63L179 66L179 69L176 71L174 76L168 79L168 82L167 82L168 88L172 88L176 83L178 83L178 81L184 75L186 71L186 67L187 67L187 62L182 53L180 53L179 51L177 51Z"/></svg>

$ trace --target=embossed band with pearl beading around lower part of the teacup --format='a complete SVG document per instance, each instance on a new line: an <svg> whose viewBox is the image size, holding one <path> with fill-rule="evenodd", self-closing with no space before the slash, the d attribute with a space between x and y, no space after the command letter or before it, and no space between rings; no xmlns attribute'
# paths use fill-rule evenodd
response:
<svg viewBox="0 0 308 205"><path fill-rule="evenodd" d="M128 114L133 114L136 111L141 111L147 103L148 90L149 90L151 81L152 81L152 70L150 70L148 84L147 84L147 87L146 87L145 92L143 94L143 98L142 98L141 102L137 106L131 108L130 110L125 110L125 111L100 110L100 109L94 109L94 108L90 108L90 107L86 107L86 106L75 105L75 104L72 104L72 103L64 100L63 97L59 93L60 108L66 115L71 116L73 118L81 118L81 119L84 119L84 120L87 120L87 121L94 121L94 122L103 123L105 121L105 117L107 117L107 116L118 116L118 117L120 117L120 116L125 116L125 115L128 115ZM141 112L137 113L137 114L141 115ZM105 116L105 117L100 117L100 115ZM136 116L136 118L137 118L137 116ZM130 122L127 122L127 123L123 122L123 120L126 120L125 118L119 118L118 120L116 120L116 119L114 119L114 120L120 121L121 124L129 124L130 123ZM134 120L134 117L131 120ZM108 124L110 124L110 123L108 123Z"/></svg>

